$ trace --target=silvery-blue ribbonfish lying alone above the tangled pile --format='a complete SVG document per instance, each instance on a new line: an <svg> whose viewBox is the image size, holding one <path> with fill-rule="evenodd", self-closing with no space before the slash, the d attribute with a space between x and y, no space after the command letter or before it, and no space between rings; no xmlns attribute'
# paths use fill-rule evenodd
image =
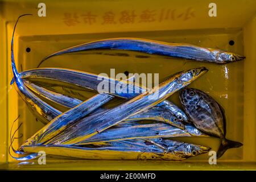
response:
<svg viewBox="0 0 256 182"><path fill-rule="evenodd" d="M38 67L43 63L44 60L52 56L93 49L139 51L149 54L171 56L197 61L207 61L209 63L217 64L231 63L245 59L244 56L237 55L233 52L223 51L221 49L204 48L192 44L167 43L139 38L112 38L96 40L94 42L84 43L54 52L40 61Z"/></svg>

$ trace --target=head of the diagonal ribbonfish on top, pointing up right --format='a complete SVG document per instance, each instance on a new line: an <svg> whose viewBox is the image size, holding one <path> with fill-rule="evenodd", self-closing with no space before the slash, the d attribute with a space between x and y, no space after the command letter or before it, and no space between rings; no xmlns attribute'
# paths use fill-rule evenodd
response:
<svg viewBox="0 0 256 182"><path fill-rule="evenodd" d="M177 82L183 83L184 86L187 86L192 81L196 80L200 76L204 75L204 73L208 72L208 69L205 67L201 68L193 68L188 71L183 71L176 74Z"/></svg>

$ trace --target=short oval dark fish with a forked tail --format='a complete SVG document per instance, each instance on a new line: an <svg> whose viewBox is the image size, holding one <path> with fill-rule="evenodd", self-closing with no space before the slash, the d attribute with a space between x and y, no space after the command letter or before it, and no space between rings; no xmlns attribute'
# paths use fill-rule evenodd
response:
<svg viewBox="0 0 256 182"><path fill-rule="evenodd" d="M240 142L225 138L226 119L224 110L207 93L194 88L184 88L180 91L180 101L197 129L221 139L217 158L220 158L229 148L243 145Z"/></svg>

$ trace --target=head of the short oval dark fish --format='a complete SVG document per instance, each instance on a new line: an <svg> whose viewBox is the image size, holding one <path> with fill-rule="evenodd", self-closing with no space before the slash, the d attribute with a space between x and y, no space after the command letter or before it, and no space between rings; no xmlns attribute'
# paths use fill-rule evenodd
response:
<svg viewBox="0 0 256 182"><path fill-rule="evenodd" d="M194 88L183 88L180 90L180 101L184 106L198 105L201 101L201 91Z"/></svg>

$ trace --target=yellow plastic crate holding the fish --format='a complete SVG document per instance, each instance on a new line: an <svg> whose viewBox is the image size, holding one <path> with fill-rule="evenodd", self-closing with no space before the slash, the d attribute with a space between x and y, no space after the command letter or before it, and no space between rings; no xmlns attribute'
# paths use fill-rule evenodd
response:
<svg viewBox="0 0 256 182"><path fill-rule="evenodd" d="M256 169L256 1L214 1L217 16L210 17L208 1L44 1L46 17L38 16L36 1L0 1L0 168L1 169ZM63 160L47 158L46 165L37 160L19 163L9 156L10 128L20 114L14 129L23 123L16 140L23 140L43 127L19 98L13 86L10 67L11 35L15 32L14 53L18 70L36 68L40 60L52 52L105 38L134 37L184 42L220 48L245 55L237 63L217 65L130 51L87 51L56 56L41 67L63 67L92 73L159 73L160 80L184 69L205 66L209 72L190 86L208 92L224 107L227 135L243 143L217 160L208 163L208 154L181 162L172 161L108 161ZM229 41L234 45L230 46ZM30 48L30 52L26 49ZM177 94L169 100L179 105ZM16 135L18 136L18 134ZM179 138L217 150L217 138Z"/></svg>

